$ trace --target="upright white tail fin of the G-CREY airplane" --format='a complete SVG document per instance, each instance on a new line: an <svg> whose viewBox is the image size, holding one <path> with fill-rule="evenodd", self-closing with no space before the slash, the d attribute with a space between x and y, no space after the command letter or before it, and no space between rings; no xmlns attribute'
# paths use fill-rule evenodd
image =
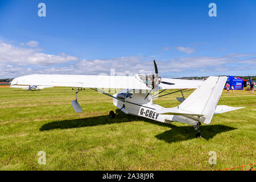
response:
<svg viewBox="0 0 256 182"><path fill-rule="evenodd" d="M203 121L201 119L200 121L209 125L218 104L218 100L221 97L226 79L226 76L210 76L177 108L189 113L204 115L204 117L201 118Z"/></svg>

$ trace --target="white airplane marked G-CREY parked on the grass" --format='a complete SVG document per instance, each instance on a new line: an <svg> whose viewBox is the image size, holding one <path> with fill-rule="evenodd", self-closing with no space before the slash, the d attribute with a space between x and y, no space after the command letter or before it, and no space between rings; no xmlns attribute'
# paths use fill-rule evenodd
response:
<svg viewBox="0 0 256 182"><path fill-rule="evenodd" d="M77 102L77 93L82 88L90 88L113 98L113 104L118 111L125 114L138 115L164 123L181 122L195 127L198 132L196 137L201 138L200 125L210 124L213 114L225 113L241 109L243 107L230 107L217 105L222 90L226 83L226 76L210 76L205 81L180 80L172 78L161 78L158 76L158 68L155 65L154 75L135 76L105 76L105 75L27 75L15 78L11 85L48 85L68 86L76 88L76 100L72 101L73 109L81 113L82 109ZM78 88L78 91L77 91ZM196 90L184 98L183 92L188 89ZM109 94L104 89L122 89L121 92ZM167 89L180 89L175 92L163 94ZM152 92L159 92L155 95ZM181 102L176 107L164 108L157 105L153 100L157 97L181 92L183 97L178 97ZM114 118L114 111L110 111L110 118Z"/></svg>

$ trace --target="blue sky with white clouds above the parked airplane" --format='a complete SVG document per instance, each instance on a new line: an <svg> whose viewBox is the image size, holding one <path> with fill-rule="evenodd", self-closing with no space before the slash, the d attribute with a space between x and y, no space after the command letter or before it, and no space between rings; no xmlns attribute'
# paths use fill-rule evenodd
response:
<svg viewBox="0 0 256 182"><path fill-rule="evenodd" d="M165 77L256 75L255 22L256 1L1 0L0 77L150 73L154 59Z"/></svg>

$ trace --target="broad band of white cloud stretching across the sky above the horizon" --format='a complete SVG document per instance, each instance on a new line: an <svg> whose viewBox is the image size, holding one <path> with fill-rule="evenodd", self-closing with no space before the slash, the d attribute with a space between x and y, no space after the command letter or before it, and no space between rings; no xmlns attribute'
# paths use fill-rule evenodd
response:
<svg viewBox="0 0 256 182"><path fill-rule="evenodd" d="M231 53L229 55L210 57L181 57L177 59L159 59L157 56L123 56L112 59L79 60L77 57L60 53L49 55L39 52L38 48L20 48L0 40L0 77L17 77L30 74L69 74L69 75L98 75L110 74L115 69L117 75L129 73L154 73L156 60L160 76L164 73L186 76L189 73L208 72L225 73L230 69L255 68L256 54ZM67 63L67 61L75 61ZM64 64L67 63L67 64ZM242 65L242 66L241 66Z"/></svg>

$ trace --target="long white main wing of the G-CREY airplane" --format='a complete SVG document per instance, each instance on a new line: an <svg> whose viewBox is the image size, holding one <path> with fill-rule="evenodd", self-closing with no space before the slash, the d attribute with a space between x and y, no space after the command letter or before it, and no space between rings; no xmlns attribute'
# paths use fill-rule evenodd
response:
<svg viewBox="0 0 256 182"><path fill-rule="evenodd" d="M160 89L197 88L203 81L180 80L162 78L162 81L173 85L160 83ZM115 89L142 89L151 90L135 76L107 76L107 75L27 75L15 78L13 85L38 86L69 86L80 88L115 88Z"/></svg>

